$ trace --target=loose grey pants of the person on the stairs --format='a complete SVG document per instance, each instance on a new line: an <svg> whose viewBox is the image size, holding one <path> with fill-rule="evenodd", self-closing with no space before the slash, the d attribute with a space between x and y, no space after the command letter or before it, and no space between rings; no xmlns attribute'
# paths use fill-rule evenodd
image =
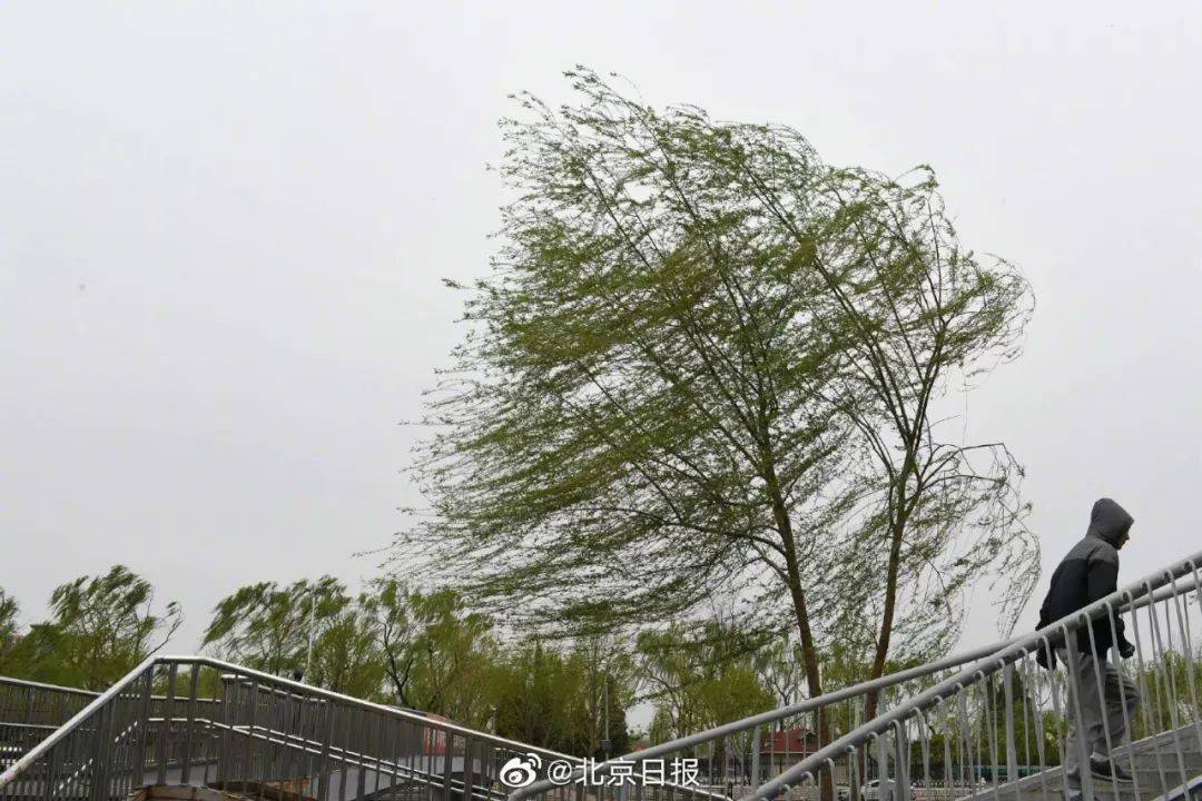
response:
<svg viewBox="0 0 1202 801"><path fill-rule="evenodd" d="M1069 651L1057 648L1057 658L1069 668ZM1101 675L1099 675L1101 674ZM1097 686L1101 680L1102 693ZM1077 699L1081 699L1082 721L1077 721ZM1079 785L1081 751L1085 755L1096 754L1109 759L1111 748L1120 745L1126 735L1127 723L1139 705L1139 693L1135 682L1119 673L1108 660L1096 659L1089 653L1077 653L1077 680L1069 674L1069 699L1065 712L1069 717L1067 752L1064 769L1070 784ZM1125 710L1124 710L1125 707ZM1106 740L1109 731L1109 742ZM1083 741L1082 741L1083 739ZM1084 746L1084 748L1082 748Z"/></svg>

